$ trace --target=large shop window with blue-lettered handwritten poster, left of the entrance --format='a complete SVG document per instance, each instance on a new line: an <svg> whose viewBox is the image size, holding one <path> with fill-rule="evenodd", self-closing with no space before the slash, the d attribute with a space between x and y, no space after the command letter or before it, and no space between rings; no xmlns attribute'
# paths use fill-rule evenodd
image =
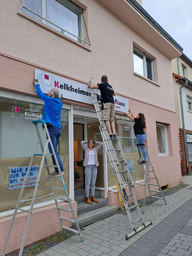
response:
<svg viewBox="0 0 192 256"><path fill-rule="evenodd" d="M38 140L35 126L31 123L33 120L42 118L43 104L41 99L27 97L23 95L24 100L16 99L18 94L11 94L10 98L0 97L0 202L1 212L9 211L15 208L18 201L20 186L25 177L26 168L29 165L33 150ZM22 97L20 97L22 98ZM34 103L33 102L39 102ZM39 125L39 132L45 145L46 133ZM68 128L68 110L62 109L61 113L62 135L59 140L58 151L65 168L65 183L69 187L69 128ZM41 153L40 146L36 153ZM48 153L48 151L47 151ZM51 157L46 157L48 164L52 164ZM41 157L35 157L32 166L40 167ZM12 168L12 169L11 169ZM23 171L19 171L19 170ZM50 171L54 171L52 168ZM20 173L22 172L22 173ZM31 173L31 177L33 174ZM35 178L35 176L34 176ZM58 182L58 180L57 180ZM59 182L60 183L60 182ZM16 185L17 184L17 185ZM19 186L19 188L18 188ZM62 186L59 184L59 186ZM32 198L33 187L25 189L23 197ZM40 186L38 187L37 197L51 193L49 178L47 177L46 167L43 166L40 177ZM63 195L58 191L57 195ZM6 198L6 200L4 200ZM43 202L52 200L49 196L36 200ZM30 205L31 201L21 203L21 207Z"/></svg>

